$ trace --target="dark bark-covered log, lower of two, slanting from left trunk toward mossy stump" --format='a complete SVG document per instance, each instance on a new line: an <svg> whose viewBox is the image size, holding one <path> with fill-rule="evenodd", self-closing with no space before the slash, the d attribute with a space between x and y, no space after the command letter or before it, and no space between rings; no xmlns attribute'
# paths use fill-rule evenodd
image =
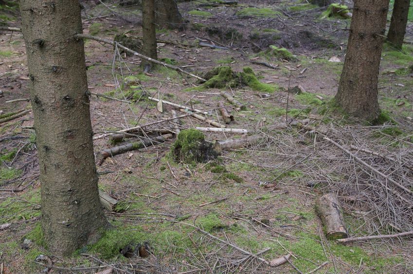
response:
<svg viewBox="0 0 413 274"><path fill-rule="evenodd" d="M170 139L170 138L172 138L172 134L169 133L169 134L158 136L153 139L145 139L145 140L139 140L136 142L129 142L121 146L116 146L116 147L98 152L96 154L96 160L98 162L98 165L101 165L103 161L108 157L122 154L128 151L131 151L131 150L138 150L144 147L152 146L157 143L163 143L166 139Z"/></svg>

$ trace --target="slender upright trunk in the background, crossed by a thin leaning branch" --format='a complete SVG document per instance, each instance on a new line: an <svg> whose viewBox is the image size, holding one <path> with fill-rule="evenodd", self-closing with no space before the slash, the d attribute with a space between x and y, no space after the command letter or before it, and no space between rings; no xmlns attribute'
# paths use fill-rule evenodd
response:
<svg viewBox="0 0 413 274"><path fill-rule="evenodd" d="M142 1L142 29L144 32L142 48L144 55L152 59L158 59L156 52L155 0ZM142 60L141 67L144 71L150 71L153 66L153 63Z"/></svg>

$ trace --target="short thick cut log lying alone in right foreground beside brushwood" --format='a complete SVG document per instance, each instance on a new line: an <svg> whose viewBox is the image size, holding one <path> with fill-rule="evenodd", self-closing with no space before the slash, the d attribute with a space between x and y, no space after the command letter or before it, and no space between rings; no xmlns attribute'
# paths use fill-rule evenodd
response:
<svg viewBox="0 0 413 274"><path fill-rule="evenodd" d="M336 194L328 193L321 196L316 204L316 212L323 222L324 233L328 240L337 240L348 237L348 232Z"/></svg>

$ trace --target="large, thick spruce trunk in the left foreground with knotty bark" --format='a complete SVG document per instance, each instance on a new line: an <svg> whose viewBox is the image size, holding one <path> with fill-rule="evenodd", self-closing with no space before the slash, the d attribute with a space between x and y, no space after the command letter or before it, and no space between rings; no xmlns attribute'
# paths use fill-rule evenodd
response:
<svg viewBox="0 0 413 274"><path fill-rule="evenodd" d="M100 237L99 202L78 0L20 0L47 248L70 255Z"/></svg>

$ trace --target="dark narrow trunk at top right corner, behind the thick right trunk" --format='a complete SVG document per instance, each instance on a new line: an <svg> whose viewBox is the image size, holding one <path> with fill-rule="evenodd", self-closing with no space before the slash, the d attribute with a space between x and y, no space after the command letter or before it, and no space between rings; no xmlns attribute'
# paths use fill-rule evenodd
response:
<svg viewBox="0 0 413 274"><path fill-rule="evenodd" d="M395 0L389 33L387 34L387 41L396 49L401 49L401 46L403 45L409 8L410 0Z"/></svg>

